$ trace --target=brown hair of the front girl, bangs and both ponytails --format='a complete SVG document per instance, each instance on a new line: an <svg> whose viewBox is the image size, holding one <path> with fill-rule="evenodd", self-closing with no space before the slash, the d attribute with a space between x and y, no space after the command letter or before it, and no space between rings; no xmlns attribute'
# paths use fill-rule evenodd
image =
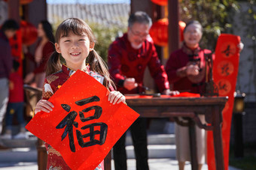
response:
<svg viewBox="0 0 256 170"><path fill-rule="evenodd" d="M61 37L68 36L69 32L72 31L74 34L82 35L87 34L89 37L90 43L95 43L96 38L93 35L93 31L91 30L90 26L87 25L81 19L77 18L69 18L65 19L57 28L56 30L56 43L59 43ZM97 52L93 49L87 56L87 64L90 65L90 70L100 73L102 76L105 77L103 85L110 89L110 87L114 87L114 82L110 79L110 75L108 72L108 67L105 64L105 61L97 54ZM47 63L47 70L46 74L50 75L59 71L61 69L61 64L59 61L59 54L54 52L53 55L50 56L49 61Z"/></svg>

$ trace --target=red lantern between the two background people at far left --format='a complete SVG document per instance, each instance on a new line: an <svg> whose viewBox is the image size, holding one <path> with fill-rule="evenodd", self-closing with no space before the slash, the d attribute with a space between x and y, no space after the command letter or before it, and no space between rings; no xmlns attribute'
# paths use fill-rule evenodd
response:
<svg viewBox="0 0 256 170"><path fill-rule="evenodd" d="M35 43L35 40L38 38L38 29L32 23L26 21L20 22L20 28L23 35L23 44L30 46L32 43Z"/></svg>

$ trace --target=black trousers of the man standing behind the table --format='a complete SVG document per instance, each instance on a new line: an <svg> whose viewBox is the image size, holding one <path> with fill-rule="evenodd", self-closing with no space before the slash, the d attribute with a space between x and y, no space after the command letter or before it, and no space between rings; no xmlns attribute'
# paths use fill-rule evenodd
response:
<svg viewBox="0 0 256 170"><path fill-rule="evenodd" d="M130 127L130 132L136 156L136 169L148 170L148 142L145 118L138 118ZM115 170L127 169L125 137L126 133L123 134L113 148Z"/></svg>

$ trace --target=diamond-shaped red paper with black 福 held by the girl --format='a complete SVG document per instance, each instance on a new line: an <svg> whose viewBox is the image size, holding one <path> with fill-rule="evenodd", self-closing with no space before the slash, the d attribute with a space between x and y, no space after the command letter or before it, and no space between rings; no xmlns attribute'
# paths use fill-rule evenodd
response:
<svg viewBox="0 0 256 170"><path fill-rule="evenodd" d="M94 170L139 114L108 102L107 88L80 70L50 97L54 108L39 112L26 129L50 144L71 169Z"/></svg>

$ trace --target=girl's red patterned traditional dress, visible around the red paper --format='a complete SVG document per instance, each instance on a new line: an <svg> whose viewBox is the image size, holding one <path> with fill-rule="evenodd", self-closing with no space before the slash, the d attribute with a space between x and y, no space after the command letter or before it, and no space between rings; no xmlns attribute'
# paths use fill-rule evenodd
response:
<svg viewBox="0 0 256 170"><path fill-rule="evenodd" d="M90 76L93 76L94 79L98 80L99 82L103 83L104 76L100 75L99 73L95 73L90 71L87 67L87 70L83 70L84 72L88 73ZM66 65L62 65L62 70L59 72L53 73L50 76L47 76L44 81L43 87L43 99L48 100L50 97L61 87L61 85L69 79L75 71L66 67ZM69 166L66 164L65 160L63 160L62 156L52 148L47 143L45 144L47 148L47 170L52 169L65 169L69 170ZM104 160L102 163L97 166L95 170L104 170Z"/></svg>

